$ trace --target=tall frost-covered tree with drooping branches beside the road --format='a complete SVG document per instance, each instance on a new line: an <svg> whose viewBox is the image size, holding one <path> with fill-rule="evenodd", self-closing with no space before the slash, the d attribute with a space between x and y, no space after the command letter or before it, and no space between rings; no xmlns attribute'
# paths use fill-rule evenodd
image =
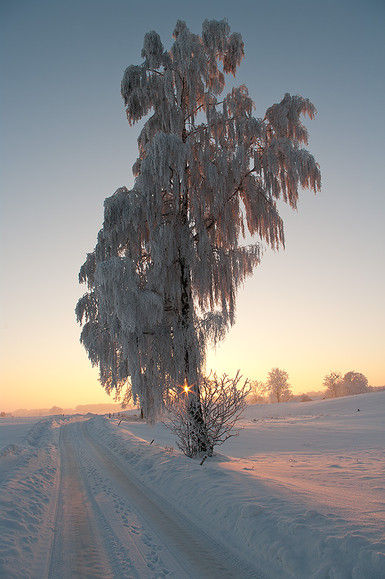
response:
<svg viewBox="0 0 385 579"><path fill-rule="evenodd" d="M156 32L146 34L142 64L124 73L128 122L145 119L136 180L105 201L79 275L88 292L77 317L108 392L130 380L151 417L168 389L186 382L201 427L206 345L234 323L237 289L260 261L260 242L284 245L277 201L295 209L301 188L320 187L300 120L316 111L285 94L256 118L246 86L222 96L244 55L226 21L205 20L201 36L178 21L173 38L166 51ZM241 243L246 232L252 245Z"/></svg>

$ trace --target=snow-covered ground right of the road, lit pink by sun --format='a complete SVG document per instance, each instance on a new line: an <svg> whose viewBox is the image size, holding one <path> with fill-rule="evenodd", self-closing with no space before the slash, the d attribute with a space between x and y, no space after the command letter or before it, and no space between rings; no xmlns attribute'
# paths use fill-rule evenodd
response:
<svg viewBox="0 0 385 579"><path fill-rule="evenodd" d="M385 572L384 417L385 392L249 406L240 436L203 466L173 450L161 424L97 418L92 428L144 485L267 577L375 579Z"/></svg>

